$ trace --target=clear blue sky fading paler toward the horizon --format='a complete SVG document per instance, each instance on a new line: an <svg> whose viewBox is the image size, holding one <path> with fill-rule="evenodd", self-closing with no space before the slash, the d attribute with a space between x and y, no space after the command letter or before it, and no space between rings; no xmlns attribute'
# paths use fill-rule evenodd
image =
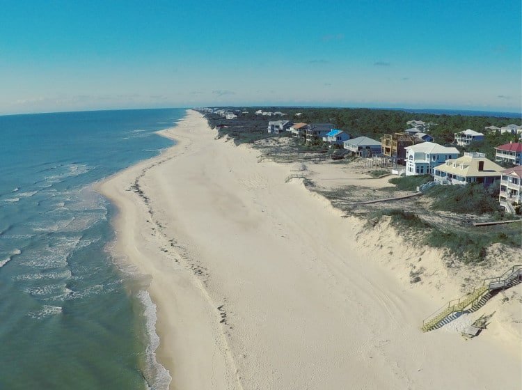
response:
<svg viewBox="0 0 522 390"><path fill-rule="evenodd" d="M521 111L521 1L0 1L0 114Z"/></svg>

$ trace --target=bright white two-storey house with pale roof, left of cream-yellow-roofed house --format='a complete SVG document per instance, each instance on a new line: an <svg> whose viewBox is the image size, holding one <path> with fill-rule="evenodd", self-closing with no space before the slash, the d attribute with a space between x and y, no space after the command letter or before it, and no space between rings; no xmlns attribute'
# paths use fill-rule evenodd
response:
<svg viewBox="0 0 522 390"><path fill-rule="evenodd" d="M448 148L433 142L406 146L406 176L432 175L436 166L448 159L456 159L457 148Z"/></svg>

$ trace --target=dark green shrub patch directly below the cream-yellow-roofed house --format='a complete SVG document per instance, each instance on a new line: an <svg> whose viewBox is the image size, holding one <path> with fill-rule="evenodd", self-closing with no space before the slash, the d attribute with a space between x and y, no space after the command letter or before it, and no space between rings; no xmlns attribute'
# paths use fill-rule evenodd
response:
<svg viewBox="0 0 522 390"><path fill-rule="evenodd" d="M480 184L436 185L426 194L434 198L433 210L459 214L484 214L500 212L498 192L495 187L491 185L486 189Z"/></svg>

